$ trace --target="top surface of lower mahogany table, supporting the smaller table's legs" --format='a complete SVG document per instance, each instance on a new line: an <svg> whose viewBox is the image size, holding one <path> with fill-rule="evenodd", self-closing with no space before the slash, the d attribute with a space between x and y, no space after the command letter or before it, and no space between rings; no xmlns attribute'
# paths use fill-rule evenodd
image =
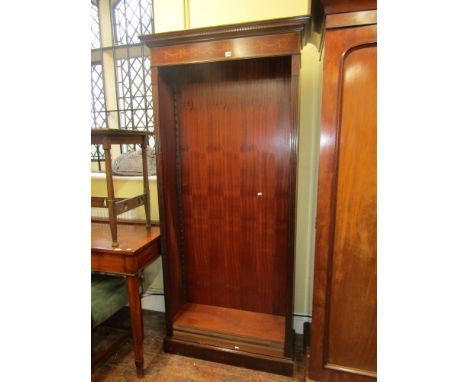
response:
<svg viewBox="0 0 468 382"><path fill-rule="evenodd" d="M91 252L137 255L159 239L159 227L146 228L143 224L117 224L118 247L112 247L108 223L91 223Z"/></svg>

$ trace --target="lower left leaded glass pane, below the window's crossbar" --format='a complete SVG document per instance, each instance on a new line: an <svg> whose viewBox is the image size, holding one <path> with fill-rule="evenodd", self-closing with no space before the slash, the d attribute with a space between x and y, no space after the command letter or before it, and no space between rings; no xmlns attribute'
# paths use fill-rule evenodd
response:
<svg viewBox="0 0 468 382"><path fill-rule="evenodd" d="M91 128L107 127L102 65L91 65ZM102 145L91 145L91 160L104 158Z"/></svg>

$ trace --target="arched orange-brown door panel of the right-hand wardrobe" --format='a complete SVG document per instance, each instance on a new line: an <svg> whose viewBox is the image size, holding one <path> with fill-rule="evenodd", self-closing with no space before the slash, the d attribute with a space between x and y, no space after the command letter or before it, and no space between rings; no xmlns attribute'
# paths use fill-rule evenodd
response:
<svg viewBox="0 0 468 382"><path fill-rule="evenodd" d="M328 360L375 372L377 254L377 49L343 62Z"/></svg>

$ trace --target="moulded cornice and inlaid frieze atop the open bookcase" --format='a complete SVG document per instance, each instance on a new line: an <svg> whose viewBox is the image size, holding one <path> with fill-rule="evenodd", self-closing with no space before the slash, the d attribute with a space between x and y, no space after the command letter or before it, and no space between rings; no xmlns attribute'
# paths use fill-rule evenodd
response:
<svg viewBox="0 0 468 382"><path fill-rule="evenodd" d="M305 42L309 16L262 20L141 36L151 47L151 64L232 61L292 55Z"/></svg>

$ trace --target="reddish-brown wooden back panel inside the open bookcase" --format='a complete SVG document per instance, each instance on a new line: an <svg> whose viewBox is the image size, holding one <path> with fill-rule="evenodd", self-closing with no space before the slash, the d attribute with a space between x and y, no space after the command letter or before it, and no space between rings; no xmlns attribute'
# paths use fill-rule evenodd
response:
<svg viewBox="0 0 468 382"><path fill-rule="evenodd" d="M285 314L290 58L177 68L187 301Z"/></svg>

